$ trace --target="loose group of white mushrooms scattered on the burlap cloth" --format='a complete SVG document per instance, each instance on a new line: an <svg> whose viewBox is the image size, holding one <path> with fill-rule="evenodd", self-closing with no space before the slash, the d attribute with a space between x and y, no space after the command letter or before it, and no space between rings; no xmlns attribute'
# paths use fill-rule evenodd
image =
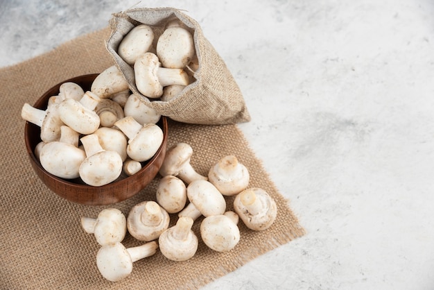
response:
<svg viewBox="0 0 434 290"><path fill-rule="evenodd" d="M186 143L168 148L159 170L155 201L134 205L126 218L119 210L109 209L97 219L81 219L85 232L94 234L101 245L96 263L104 278L125 278L132 272L132 262L155 254L158 248L175 262L191 259L200 242L216 252L233 250L241 239L240 220L256 231L274 223L275 201L263 189L248 188L249 171L234 155L218 160L207 176L191 166L192 155L193 148ZM229 201L234 211L227 210ZM171 219L177 220L170 225ZM200 223L197 234L192 230L196 222ZM135 247L137 250L125 249L121 244L125 232L145 244Z"/></svg>

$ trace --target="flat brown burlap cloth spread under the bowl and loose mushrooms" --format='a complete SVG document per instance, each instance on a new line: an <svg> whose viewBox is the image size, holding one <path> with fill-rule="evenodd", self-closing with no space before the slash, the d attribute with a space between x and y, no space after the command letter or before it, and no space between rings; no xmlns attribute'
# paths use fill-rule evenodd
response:
<svg viewBox="0 0 434 290"><path fill-rule="evenodd" d="M112 65L103 29L59 46L54 51L0 69L1 106L1 289L197 289L246 262L304 234L287 201L254 156L234 125L206 126L169 123L169 144L186 142L194 149L193 167L206 174L220 157L234 154L250 170L250 187L262 187L277 201L277 221L263 232L241 222L241 241L228 253L210 250L200 240L195 257L173 262L161 253L134 263L121 282L104 280L96 268L98 244L80 225L81 216L96 217L109 206L85 206L66 201L37 178L24 144L21 106L34 103L47 89L81 74L98 73ZM141 201L155 200L157 180L139 194L111 205L124 214ZM229 201L229 209L230 201ZM175 219L173 219L175 220ZM198 234L196 221L193 230ZM199 236L198 236L199 237ZM129 234L125 246L141 244Z"/></svg>

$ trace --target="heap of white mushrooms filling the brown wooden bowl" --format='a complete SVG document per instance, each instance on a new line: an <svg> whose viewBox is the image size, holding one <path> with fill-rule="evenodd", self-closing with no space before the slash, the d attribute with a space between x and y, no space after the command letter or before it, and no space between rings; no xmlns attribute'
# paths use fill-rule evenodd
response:
<svg viewBox="0 0 434 290"><path fill-rule="evenodd" d="M99 187L137 173L163 142L161 115L130 93L116 66L96 76L90 91L63 83L45 110L25 103L22 119L40 126L35 156L64 179Z"/></svg>

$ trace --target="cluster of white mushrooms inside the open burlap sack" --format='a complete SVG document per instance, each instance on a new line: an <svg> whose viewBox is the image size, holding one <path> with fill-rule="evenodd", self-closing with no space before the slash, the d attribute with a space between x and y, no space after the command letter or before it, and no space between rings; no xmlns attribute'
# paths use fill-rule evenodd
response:
<svg viewBox="0 0 434 290"><path fill-rule="evenodd" d="M117 52L133 68L137 90L150 101L169 101L193 83L198 58L191 29L173 19L157 35L140 24L121 40Z"/></svg>

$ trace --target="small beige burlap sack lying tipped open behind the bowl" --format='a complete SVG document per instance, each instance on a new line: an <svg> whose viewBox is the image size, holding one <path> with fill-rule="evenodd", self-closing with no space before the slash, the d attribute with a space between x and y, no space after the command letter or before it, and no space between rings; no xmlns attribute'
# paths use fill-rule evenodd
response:
<svg viewBox="0 0 434 290"><path fill-rule="evenodd" d="M118 55L117 47L124 35L139 24L151 26L157 39L173 17L180 19L193 33L199 60L199 69L193 74L196 81L171 101L150 101L137 90L134 69ZM106 43L107 50L132 92L142 96L148 107L184 123L212 125L250 121L241 90L196 20L174 8L137 8L114 14L110 26L112 33Z"/></svg>

